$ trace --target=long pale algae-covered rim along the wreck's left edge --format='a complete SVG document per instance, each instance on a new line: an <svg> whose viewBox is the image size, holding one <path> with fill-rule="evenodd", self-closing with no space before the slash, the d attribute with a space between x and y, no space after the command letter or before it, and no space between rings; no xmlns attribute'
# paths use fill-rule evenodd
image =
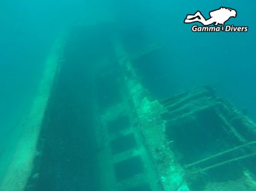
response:
<svg viewBox="0 0 256 191"><path fill-rule="evenodd" d="M33 160L36 157L36 146L42 121L44 118L48 98L56 77L64 42L60 39L55 42L52 52L49 54L44 74L38 85L37 94L33 100L30 113L24 119L21 138L19 138L11 163L7 167L4 178L0 184L0 190L23 191L26 188L27 179L33 169Z"/></svg>

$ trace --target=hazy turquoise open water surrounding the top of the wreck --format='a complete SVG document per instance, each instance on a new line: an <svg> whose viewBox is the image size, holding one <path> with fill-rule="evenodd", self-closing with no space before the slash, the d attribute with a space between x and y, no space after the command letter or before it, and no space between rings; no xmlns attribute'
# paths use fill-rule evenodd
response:
<svg viewBox="0 0 256 191"><path fill-rule="evenodd" d="M236 9L228 24L247 25L249 32L193 33L183 23L186 14L207 16L220 6ZM54 39L80 24L111 23L108 29L128 34L124 41L133 49L139 41L163 44L161 60L136 66L155 98L210 84L256 120L255 8L253 0L2 0L0 157L29 110Z"/></svg>

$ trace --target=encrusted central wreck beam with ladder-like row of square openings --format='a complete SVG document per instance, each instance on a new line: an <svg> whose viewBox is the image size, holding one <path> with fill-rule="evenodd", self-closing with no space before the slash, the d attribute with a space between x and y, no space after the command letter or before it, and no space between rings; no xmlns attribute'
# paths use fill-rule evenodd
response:
<svg viewBox="0 0 256 191"><path fill-rule="evenodd" d="M105 160L100 165L105 171L102 190L188 190L183 170L165 140L161 114L166 109L158 101L148 100L121 43L116 42L115 50L122 71L122 99L105 109L97 133L103 148L99 161Z"/></svg>

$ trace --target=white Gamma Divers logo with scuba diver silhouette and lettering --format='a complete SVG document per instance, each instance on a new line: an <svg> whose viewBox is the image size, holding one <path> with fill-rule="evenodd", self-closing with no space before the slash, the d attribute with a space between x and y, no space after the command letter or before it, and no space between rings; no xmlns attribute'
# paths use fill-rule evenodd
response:
<svg viewBox="0 0 256 191"><path fill-rule="evenodd" d="M237 12L234 9L220 7L220 9L210 11L209 19L205 19L200 11L197 11L194 15L186 15L184 23L192 23L192 22L200 22L204 25L204 27L200 27L198 25L193 25L191 30L193 32L247 32L247 26L234 26L234 25L226 25L224 23L228 21L231 17L236 17ZM210 24L214 24L214 26L208 26ZM221 24L222 26L218 26Z"/></svg>

